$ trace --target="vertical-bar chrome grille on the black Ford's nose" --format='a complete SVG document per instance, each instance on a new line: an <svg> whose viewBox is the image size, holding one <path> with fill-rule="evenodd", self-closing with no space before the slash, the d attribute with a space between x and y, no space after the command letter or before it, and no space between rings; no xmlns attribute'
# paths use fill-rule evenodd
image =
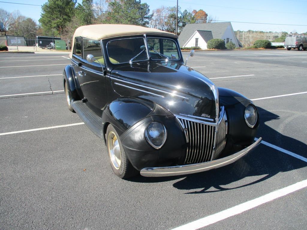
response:
<svg viewBox="0 0 307 230"><path fill-rule="evenodd" d="M196 122L195 120L189 121L186 119L178 118L183 130L185 131L185 137L188 143L188 147L186 149L185 164L211 161L220 155L226 145L226 113L221 116L221 119L222 120L218 125L218 130L216 133L215 123L209 125ZM214 142L216 142L216 144Z"/></svg>

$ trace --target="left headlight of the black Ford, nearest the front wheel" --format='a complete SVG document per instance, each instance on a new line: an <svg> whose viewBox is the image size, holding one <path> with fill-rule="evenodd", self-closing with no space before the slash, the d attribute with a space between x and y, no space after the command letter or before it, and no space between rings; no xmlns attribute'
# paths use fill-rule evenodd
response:
<svg viewBox="0 0 307 230"><path fill-rule="evenodd" d="M157 121L151 122L146 130L145 137L147 142L156 149L162 147L166 140L166 128L163 124Z"/></svg>

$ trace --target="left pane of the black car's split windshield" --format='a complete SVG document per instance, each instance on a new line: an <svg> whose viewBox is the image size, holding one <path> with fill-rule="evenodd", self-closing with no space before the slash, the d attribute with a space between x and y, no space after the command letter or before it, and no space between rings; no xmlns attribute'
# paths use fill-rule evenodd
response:
<svg viewBox="0 0 307 230"><path fill-rule="evenodd" d="M124 38L109 41L107 44L109 60L112 64L148 60L145 41L142 37Z"/></svg>

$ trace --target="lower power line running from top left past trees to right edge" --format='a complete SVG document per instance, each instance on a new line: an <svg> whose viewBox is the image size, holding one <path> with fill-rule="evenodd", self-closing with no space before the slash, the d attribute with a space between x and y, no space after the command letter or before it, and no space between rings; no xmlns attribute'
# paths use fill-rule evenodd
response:
<svg viewBox="0 0 307 230"><path fill-rule="evenodd" d="M162 1L162 0L161 0ZM164 0L163 0L164 1ZM166 1L166 0L165 0ZM2 1L0 1L2 2ZM16 3L16 2L4 2L4 3L11 3L11 4L18 4L18 5L30 5L30 6L41 6L41 5L33 5L33 4L25 4L25 3ZM107 10L89 10L89 9L77 9L77 8L70 8L70 7L62 7L62 9L70 9L70 10L88 10L88 11L98 11L101 13L118 13L118 14L128 14L128 13L122 13L122 12L114 12L114 11L107 11ZM140 16L141 15L138 14ZM173 18L170 16L160 16L160 15L152 15L152 17L167 17L167 18ZM187 18L187 17L182 17L181 19L195 19L195 18ZM207 21L207 19L198 19L202 21ZM248 24L262 24L262 25L291 25L291 26L307 26L307 25L294 25L294 24L276 24L276 23L261 23L261 22L246 22L246 21L222 21L222 20L211 20L211 21L219 21L219 22L235 22L235 23L248 23Z"/></svg>

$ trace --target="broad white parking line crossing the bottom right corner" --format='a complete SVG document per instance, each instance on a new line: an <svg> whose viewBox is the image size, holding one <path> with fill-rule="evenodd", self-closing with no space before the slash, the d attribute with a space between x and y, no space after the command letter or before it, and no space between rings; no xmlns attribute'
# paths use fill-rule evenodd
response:
<svg viewBox="0 0 307 230"><path fill-rule="evenodd" d="M266 195L255 198L253 200L250 200L250 201L244 202L242 204L236 205L232 208L223 210L219 213L216 213L216 214L201 218L199 220L195 220L191 223L182 225L180 227L174 228L173 230L196 230L196 229L199 229L199 228L204 228L204 227L206 227L210 224L214 224L218 221L227 219L228 217L238 215L238 214L243 213L247 210L255 208L259 205L273 201L273 200L275 200L279 197L286 196L290 193L293 193L297 190L301 190L301 189L306 188L306 187L307 187L307 180L303 180L301 182L297 182L293 185L287 186L287 187L282 188L282 189L278 189L274 192L270 192Z"/></svg>

